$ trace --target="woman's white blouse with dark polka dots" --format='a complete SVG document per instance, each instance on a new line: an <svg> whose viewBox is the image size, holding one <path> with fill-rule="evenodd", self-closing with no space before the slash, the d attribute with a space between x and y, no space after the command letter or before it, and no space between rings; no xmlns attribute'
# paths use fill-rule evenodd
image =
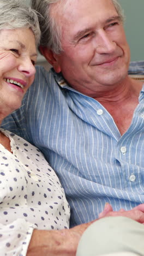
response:
<svg viewBox="0 0 144 256"><path fill-rule="evenodd" d="M34 228L69 228L70 208L43 154L1 131L10 138L13 154L0 144L0 255L26 255Z"/></svg>

